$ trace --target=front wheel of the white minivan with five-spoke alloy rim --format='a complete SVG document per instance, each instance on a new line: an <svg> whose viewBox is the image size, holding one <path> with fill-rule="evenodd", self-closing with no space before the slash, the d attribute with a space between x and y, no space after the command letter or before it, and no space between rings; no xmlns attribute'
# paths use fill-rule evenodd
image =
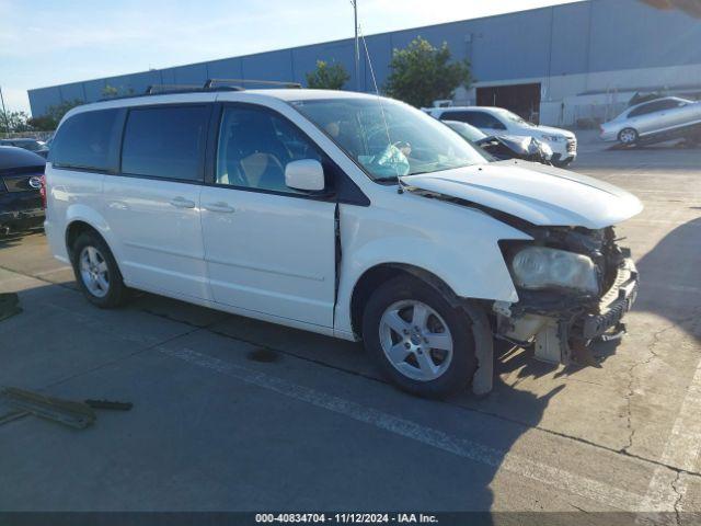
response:
<svg viewBox="0 0 701 526"><path fill-rule="evenodd" d="M425 398L464 390L478 363L472 320L436 288L400 276L380 286L363 316L365 347L400 389Z"/></svg>

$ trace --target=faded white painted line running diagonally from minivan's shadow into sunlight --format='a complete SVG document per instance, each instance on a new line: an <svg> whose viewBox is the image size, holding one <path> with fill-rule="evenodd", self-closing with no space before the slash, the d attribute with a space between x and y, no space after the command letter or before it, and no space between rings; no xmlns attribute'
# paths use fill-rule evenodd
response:
<svg viewBox="0 0 701 526"><path fill-rule="evenodd" d="M439 430L367 408L340 397L233 365L187 347L173 350L156 346L154 348L162 354L182 359L188 364L217 371L318 408L333 411L358 422L374 425L380 430L435 447L436 449L537 480L543 484L556 488L558 492L567 491L572 494L584 496L600 504L620 510L635 510L643 499L642 495L614 488L606 482L578 476L556 467L530 460L522 456L453 436ZM665 468L660 469L664 472Z"/></svg>

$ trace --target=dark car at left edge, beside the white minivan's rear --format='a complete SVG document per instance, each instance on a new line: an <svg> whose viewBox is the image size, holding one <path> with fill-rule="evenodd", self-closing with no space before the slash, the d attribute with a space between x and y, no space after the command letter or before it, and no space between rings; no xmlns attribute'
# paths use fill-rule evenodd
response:
<svg viewBox="0 0 701 526"><path fill-rule="evenodd" d="M13 146L0 146L0 233L41 227L46 161Z"/></svg>

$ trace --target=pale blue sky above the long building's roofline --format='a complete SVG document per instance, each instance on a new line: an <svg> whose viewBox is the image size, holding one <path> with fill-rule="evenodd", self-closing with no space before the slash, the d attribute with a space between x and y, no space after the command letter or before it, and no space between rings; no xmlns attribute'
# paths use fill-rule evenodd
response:
<svg viewBox="0 0 701 526"><path fill-rule="evenodd" d="M366 35L567 0L358 0ZM353 35L349 0L0 0L0 85L26 90Z"/></svg>

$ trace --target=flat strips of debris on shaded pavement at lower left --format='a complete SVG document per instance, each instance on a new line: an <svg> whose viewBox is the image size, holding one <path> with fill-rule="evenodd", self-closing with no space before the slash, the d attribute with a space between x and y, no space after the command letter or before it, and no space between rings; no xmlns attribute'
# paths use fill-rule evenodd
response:
<svg viewBox="0 0 701 526"><path fill-rule="evenodd" d="M0 401L10 407L10 411L0 414L0 424L33 414L78 430L97 420L95 409L129 411L134 407L130 402L111 400L65 400L16 387L0 389Z"/></svg>

